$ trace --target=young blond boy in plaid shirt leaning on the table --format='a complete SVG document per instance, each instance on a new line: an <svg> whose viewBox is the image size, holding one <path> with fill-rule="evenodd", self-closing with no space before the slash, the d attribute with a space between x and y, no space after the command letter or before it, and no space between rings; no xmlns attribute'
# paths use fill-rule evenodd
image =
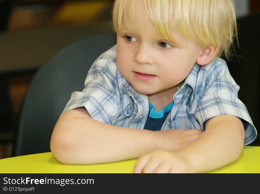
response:
<svg viewBox="0 0 260 194"><path fill-rule="evenodd" d="M116 0L113 24L117 44L96 59L54 127L56 159L139 158L137 173L208 172L235 161L256 129L218 58L230 56L236 36L232 1Z"/></svg>

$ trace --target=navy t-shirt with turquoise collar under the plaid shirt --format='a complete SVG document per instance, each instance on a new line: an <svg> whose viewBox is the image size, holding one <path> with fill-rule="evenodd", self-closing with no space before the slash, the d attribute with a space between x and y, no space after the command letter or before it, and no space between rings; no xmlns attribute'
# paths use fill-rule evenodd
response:
<svg viewBox="0 0 260 194"><path fill-rule="evenodd" d="M168 114L172 110L173 105L174 102L165 106L160 111L155 111L155 107L149 102L149 114L146 123L144 125L144 129L149 129L152 131L160 131L165 119L167 118Z"/></svg>

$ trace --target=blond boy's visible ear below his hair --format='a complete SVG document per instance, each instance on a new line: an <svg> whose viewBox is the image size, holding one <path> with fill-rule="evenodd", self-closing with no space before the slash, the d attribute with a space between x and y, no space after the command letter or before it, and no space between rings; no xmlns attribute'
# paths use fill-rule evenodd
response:
<svg viewBox="0 0 260 194"><path fill-rule="evenodd" d="M220 49L220 44L217 46L207 46L205 47L199 57L197 58L197 63L199 65L207 65L216 56L218 50Z"/></svg>

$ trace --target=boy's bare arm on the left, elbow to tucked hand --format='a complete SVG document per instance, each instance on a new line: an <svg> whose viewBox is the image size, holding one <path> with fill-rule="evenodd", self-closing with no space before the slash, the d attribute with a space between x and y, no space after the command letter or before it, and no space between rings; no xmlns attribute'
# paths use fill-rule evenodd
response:
<svg viewBox="0 0 260 194"><path fill-rule="evenodd" d="M138 158L147 152L179 150L201 130L150 131L108 125L94 120L87 110L64 113L51 136L51 151L64 164L95 164Z"/></svg>

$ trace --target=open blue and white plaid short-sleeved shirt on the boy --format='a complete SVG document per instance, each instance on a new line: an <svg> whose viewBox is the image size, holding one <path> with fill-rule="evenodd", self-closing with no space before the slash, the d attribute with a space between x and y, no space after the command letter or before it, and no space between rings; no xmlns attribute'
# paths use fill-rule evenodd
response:
<svg viewBox="0 0 260 194"><path fill-rule="evenodd" d="M224 60L195 65L173 96L173 109L161 130L202 129L209 118L234 115L242 119L245 145L256 138L256 128L246 106L238 99L239 86ZM91 66L82 92L73 92L64 108L85 107L90 116L110 125L143 129L149 113L147 95L139 94L117 68L116 45Z"/></svg>

